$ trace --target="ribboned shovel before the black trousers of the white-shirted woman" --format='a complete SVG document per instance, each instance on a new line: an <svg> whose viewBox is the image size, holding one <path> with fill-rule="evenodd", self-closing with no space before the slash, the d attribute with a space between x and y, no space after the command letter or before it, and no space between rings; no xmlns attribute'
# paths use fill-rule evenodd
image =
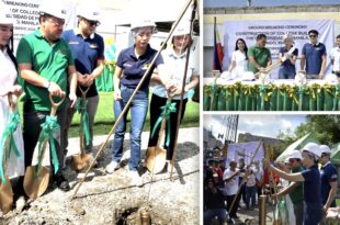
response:
<svg viewBox="0 0 340 225"><path fill-rule="evenodd" d="M156 128L158 127L159 123L161 122L161 126L159 130L158 142L156 146L148 147L146 153L146 167L150 172L158 173L160 172L166 165L167 158L167 150L160 146L160 142L162 139L166 123L168 123L168 136L166 137L166 145L169 147L170 144L170 113L175 112L175 103L171 103L171 99L168 99L167 104L161 106L163 110L160 114L159 119L157 120L155 127L152 130L151 136L154 136Z"/></svg>

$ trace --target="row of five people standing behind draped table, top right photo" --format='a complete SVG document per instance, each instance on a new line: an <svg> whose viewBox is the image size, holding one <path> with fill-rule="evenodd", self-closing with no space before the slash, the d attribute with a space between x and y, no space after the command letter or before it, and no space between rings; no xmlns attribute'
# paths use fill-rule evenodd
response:
<svg viewBox="0 0 340 225"><path fill-rule="evenodd" d="M294 38L291 34L282 37L284 46L279 50L279 79L294 79L297 75L296 59L301 57L301 70L306 72L307 79L324 79L326 72L327 55L331 60L332 74L340 79L340 35L336 37L336 47L328 49L318 41L319 33L316 30L308 31L309 42L305 43L301 55L294 46ZM243 38L236 41L235 52L231 54L229 68L222 74L228 79L250 79L258 72L268 70L273 66L271 52L265 47L267 35L259 34L256 44L247 47ZM252 75L252 76L249 76Z"/></svg>

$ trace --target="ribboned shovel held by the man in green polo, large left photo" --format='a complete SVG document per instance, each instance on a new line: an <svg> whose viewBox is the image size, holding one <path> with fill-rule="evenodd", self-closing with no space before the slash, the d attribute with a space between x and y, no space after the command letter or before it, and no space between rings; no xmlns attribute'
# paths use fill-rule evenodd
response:
<svg viewBox="0 0 340 225"><path fill-rule="evenodd" d="M24 191L30 196L30 199L37 199L41 196L48 187L49 180L49 151L47 150L47 156L45 156L46 148L48 148L48 143L52 148L52 158L54 161L55 172L58 171L59 162L56 156L53 133L59 128L57 124L57 117L55 116L58 106L63 103L63 99L55 103L52 95L49 94L49 101L52 104L50 116L46 116L46 122L42 124L42 132L39 134L37 146L34 149L34 156L32 160L32 166L26 168L26 173L24 178ZM36 157L35 157L36 156ZM37 161L34 161L37 158ZM44 160L44 161L43 161Z"/></svg>

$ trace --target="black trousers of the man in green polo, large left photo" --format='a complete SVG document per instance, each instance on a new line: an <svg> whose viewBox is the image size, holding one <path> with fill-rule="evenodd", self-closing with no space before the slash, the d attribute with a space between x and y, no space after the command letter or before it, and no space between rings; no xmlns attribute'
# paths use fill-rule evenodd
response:
<svg viewBox="0 0 340 225"><path fill-rule="evenodd" d="M42 131L41 124L45 122L46 115L49 115L49 112L33 111L29 103L24 104L23 111L24 111L23 113L23 119L24 119L23 120L23 139L24 139L24 148L25 148L25 167L29 167L32 165L34 148L37 145L38 137ZM63 138L60 138L60 131L64 131L65 120L66 120L64 112L65 112L64 110L60 110L56 114L60 130L54 133L53 135L55 138L54 143L56 146L56 151L57 151L56 154L57 154L58 161L59 161L59 170L57 175L61 175L61 170L64 168L64 151L63 151L64 143L61 142Z"/></svg>

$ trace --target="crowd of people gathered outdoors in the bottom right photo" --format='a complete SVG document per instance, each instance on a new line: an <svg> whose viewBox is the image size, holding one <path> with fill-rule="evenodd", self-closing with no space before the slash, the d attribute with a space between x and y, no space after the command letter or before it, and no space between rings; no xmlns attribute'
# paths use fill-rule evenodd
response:
<svg viewBox="0 0 340 225"><path fill-rule="evenodd" d="M327 145L308 143L290 153L284 162L263 158L262 167L259 161L245 166L242 158L238 167L231 160L228 168L225 160L219 165L211 160L204 170L204 224L214 217L219 224L231 222L238 217L238 209L251 210L261 194L269 195L270 202L288 199L286 212L292 212L288 217L296 225L338 220L338 171L330 162L330 153Z"/></svg>

